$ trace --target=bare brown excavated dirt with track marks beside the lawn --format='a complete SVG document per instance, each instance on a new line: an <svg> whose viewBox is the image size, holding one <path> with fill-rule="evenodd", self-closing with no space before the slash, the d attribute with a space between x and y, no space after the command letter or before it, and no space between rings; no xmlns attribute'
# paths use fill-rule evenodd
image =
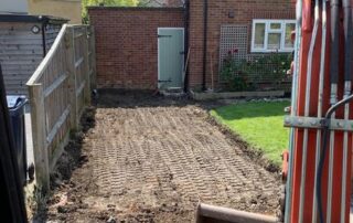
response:
<svg viewBox="0 0 353 223"><path fill-rule="evenodd" d="M199 201L275 214L280 182L208 121L212 104L101 92L65 149L50 222L193 222Z"/></svg>

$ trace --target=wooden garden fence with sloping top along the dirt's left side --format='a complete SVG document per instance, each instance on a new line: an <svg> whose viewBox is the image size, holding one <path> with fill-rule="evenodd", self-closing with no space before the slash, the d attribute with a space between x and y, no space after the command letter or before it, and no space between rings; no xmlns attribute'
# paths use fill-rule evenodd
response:
<svg viewBox="0 0 353 223"><path fill-rule="evenodd" d="M26 83L36 183L43 191L50 189L50 172L67 145L69 132L78 128L85 106L90 104L95 54L94 33L88 32L93 33L93 28L63 25Z"/></svg>

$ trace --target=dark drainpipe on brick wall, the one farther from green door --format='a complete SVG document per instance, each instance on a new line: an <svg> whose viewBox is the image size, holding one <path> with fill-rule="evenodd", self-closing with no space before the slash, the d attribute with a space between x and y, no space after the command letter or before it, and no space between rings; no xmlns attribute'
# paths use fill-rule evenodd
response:
<svg viewBox="0 0 353 223"><path fill-rule="evenodd" d="M206 63L207 63L207 22L208 22L208 0L203 4L203 67L202 67L202 91L206 91Z"/></svg>

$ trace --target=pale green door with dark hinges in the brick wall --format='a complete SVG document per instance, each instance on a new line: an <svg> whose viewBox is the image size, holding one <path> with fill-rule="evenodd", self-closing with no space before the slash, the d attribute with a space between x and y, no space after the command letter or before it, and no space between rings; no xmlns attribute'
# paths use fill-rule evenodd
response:
<svg viewBox="0 0 353 223"><path fill-rule="evenodd" d="M158 29L158 87L182 87L184 66L184 29Z"/></svg>

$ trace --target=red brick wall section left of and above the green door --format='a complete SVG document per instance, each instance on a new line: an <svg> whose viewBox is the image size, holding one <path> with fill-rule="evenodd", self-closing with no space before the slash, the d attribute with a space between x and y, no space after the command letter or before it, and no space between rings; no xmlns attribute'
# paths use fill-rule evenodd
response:
<svg viewBox="0 0 353 223"><path fill-rule="evenodd" d="M97 86L154 89L158 28L181 28L183 9L88 9L96 32Z"/></svg>

